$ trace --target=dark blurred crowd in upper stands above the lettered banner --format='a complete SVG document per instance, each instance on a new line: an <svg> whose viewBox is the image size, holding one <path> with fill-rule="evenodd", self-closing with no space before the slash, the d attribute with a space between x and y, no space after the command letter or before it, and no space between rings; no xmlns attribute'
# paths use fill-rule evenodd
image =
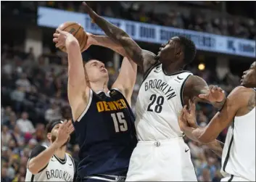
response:
<svg viewBox="0 0 256 182"><path fill-rule="evenodd" d="M202 1L194 1L194 4L190 2L189 6L188 1L186 1L186 6L182 2L176 1L88 1L88 4L96 13L106 17L197 30L223 36L256 38L255 17L252 14L252 17L240 17L220 12L220 8L212 8L218 7L218 1L205 1L203 4L208 5L208 8L192 6L200 2L203 3ZM80 1L21 1L19 6L9 6L12 6L12 13L18 15L29 11L36 12L37 4L70 12L85 12ZM20 6L24 7L23 10L20 10ZM249 13L248 7L243 8L243 4L238 4L238 6L236 9L244 9L244 14ZM241 10L238 13L241 13Z"/></svg>

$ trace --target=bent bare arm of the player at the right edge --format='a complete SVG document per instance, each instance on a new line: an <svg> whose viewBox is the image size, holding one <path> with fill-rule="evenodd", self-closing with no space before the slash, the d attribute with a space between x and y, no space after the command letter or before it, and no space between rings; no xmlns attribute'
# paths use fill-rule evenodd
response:
<svg viewBox="0 0 256 182"><path fill-rule="evenodd" d="M239 108L247 107L249 102L252 102L252 98L247 98L248 96L246 96L248 94L247 91L248 90L246 88L243 88L241 86L235 88L234 91L232 91L231 94L228 95L226 102L223 105L223 109L221 109L220 112L212 117L210 123L204 128L191 128L187 124L186 120L182 119L183 117L179 117L181 130L184 133L188 133L189 138L197 140L203 144L207 144L213 141L215 138L218 137L218 135L221 131L223 131L224 128L230 125L230 123L236 116L236 112L239 110ZM255 93L252 92L251 95L252 97L254 96L255 99ZM185 107L183 108L182 112L184 112L185 115L189 115L189 112L187 112ZM196 118L194 118L193 120L195 121ZM189 122L192 123L193 121Z"/></svg>

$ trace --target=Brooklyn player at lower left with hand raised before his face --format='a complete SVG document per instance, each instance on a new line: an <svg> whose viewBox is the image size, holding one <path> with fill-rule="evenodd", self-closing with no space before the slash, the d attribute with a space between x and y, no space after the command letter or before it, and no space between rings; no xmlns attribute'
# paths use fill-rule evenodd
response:
<svg viewBox="0 0 256 182"><path fill-rule="evenodd" d="M46 126L50 146L36 146L28 160L25 181L73 181L75 164L66 153L70 133L74 131L71 120L53 120Z"/></svg>

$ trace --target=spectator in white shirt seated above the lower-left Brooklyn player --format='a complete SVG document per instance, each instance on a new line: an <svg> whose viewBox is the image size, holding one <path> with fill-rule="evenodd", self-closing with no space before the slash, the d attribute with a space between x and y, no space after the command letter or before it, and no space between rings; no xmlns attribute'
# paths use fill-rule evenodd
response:
<svg viewBox="0 0 256 182"><path fill-rule="evenodd" d="M28 113L22 112L21 118L17 120L17 126L22 133L35 133L35 128L30 120L28 120Z"/></svg>

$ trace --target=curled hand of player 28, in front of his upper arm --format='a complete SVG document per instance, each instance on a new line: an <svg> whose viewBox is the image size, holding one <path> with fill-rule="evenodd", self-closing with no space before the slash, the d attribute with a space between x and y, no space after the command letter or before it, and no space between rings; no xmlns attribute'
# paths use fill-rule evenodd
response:
<svg viewBox="0 0 256 182"><path fill-rule="evenodd" d="M225 91L218 86L209 86L208 94L199 94L200 99L206 99L211 103L222 102L226 98Z"/></svg>

